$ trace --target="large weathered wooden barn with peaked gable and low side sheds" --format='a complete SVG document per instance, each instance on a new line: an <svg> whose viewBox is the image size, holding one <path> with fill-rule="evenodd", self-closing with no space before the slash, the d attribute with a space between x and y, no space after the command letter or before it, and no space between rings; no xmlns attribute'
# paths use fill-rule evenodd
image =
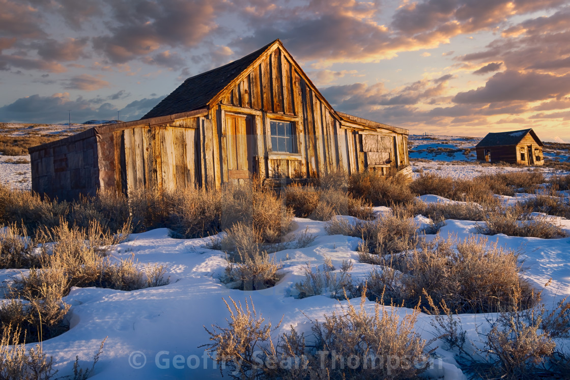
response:
<svg viewBox="0 0 570 380"><path fill-rule="evenodd" d="M217 187L344 169L410 174L408 130L337 112L280 40L186 79L141 120L30 148L32 190Z"/></svg>

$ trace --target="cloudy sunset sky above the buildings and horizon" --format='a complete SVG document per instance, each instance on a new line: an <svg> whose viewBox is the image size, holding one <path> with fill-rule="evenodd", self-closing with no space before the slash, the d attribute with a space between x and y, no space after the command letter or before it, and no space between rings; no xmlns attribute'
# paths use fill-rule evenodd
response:
<svg viewBox="0 0 570 380"><path fill-rule="evenodd" d="M0 0L0 121L136 120L280 38L337 111L570 142L566 0Z"/></svg>

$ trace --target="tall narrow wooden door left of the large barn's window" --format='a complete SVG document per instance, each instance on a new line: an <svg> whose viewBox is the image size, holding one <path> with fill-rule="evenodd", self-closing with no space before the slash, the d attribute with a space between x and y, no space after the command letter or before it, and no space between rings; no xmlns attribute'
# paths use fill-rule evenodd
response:
<svg viewBox="0 0 570 380"><path fill-rule="evenodd" d="M227 177L244 182L255 174L255 139L250 116L226 113Z"/></svg>

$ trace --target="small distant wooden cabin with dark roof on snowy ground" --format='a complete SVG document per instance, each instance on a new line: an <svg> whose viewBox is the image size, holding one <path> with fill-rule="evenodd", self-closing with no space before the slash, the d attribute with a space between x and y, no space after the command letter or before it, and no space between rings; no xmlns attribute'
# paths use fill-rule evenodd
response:
<svg viewBox="0 0 570 380"><path fill-rule="evenodd" d="M543 165L544 144L532 128L487 133L475 146L477 160L520 165Z"/></svg>

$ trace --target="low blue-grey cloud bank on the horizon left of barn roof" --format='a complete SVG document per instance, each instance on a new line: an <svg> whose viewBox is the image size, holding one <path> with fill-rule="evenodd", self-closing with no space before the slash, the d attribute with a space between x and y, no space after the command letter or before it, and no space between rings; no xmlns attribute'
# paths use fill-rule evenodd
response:
<svg viewBox="0 0 570 380"><path fill-rule="evenodd" d="M97 105L83 97L71 100L69 93L55 93L52 96L31 95L22 97L14 103L0 107L0 120L11 122L67 122L68 110L71 109L71 121L114 120L117 111L121 120L138 120L164 96L144 98L133 101L122 109L112 103Z"/></svg>

